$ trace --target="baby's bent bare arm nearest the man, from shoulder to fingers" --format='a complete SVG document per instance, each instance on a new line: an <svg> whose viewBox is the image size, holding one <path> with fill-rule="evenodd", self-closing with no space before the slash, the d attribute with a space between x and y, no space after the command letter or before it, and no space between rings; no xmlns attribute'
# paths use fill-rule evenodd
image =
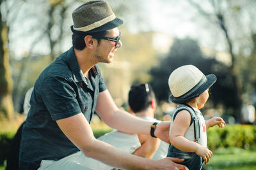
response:
<svg viewBox="0 0 256 170"><path fill-rule="evenodd" d="M194 141L189 141L188 139L184 138L184 134L188 130L190 122L190 113L187 110L179 111L173 121L170 132L170 141L173 146L179 150L182 150L183 152L196 152L197 155L204 159L205 164L207 164L209 159L212 157L211 150L199 145L198 143L195 143Z"/></svg>

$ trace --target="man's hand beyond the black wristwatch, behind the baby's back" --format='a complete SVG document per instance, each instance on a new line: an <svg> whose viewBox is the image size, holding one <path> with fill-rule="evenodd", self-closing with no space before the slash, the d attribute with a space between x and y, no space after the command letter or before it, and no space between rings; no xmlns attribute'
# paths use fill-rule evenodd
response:
<svg viewBox="0 0 256 170"><path fill-rule="evenodd" d="M156 125L155 136L166 143L170 143L169 130L170 121L164 121Z"/></svg>

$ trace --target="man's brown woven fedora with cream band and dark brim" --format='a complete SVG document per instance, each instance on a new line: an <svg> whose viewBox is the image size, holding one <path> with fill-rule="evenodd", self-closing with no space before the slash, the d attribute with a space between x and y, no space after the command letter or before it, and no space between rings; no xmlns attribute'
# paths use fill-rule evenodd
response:
<svg viewBox="0 0 256 170"><path fill-rule="evenodd" d="M89 1L72 12L74 25L71 30L77 34L113 29L123 24L106 1Z"/></svg>

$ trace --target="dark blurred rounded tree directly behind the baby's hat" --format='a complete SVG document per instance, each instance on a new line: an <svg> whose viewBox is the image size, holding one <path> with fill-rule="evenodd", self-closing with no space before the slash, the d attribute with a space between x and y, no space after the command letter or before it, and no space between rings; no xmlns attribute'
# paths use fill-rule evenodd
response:
<svg viewBox="0 0 256 170"><path fill-rule="evenodd" d="M217 81L211 87L212 96L209 100L213 106L224 105L225 108L234 107L234 88L232 87L232 77L228 74L228 67L219 62L215 57L204 56L198 46L198 42L193 39L176 39L170 53L166 55L159 66L150 70L152 81L150 85L156 92L159 101L168 101L170 89L168 78L177 67L192 64L200 69L204 74L215 74ZM232 113L228 113L232 115Z"/></svg>

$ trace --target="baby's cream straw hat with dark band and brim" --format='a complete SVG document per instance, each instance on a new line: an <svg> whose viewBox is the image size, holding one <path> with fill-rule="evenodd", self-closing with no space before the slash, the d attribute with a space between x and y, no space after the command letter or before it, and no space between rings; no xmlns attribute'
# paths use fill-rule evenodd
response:
<svg viewBox="0 0 256 170"><path fill-rule="evenodd" d="M193 65L185 65L175 69L168 83L172 95L170 100L176 104L187 103L209 89L216 81L214 74L205 76Z"/></svg>

